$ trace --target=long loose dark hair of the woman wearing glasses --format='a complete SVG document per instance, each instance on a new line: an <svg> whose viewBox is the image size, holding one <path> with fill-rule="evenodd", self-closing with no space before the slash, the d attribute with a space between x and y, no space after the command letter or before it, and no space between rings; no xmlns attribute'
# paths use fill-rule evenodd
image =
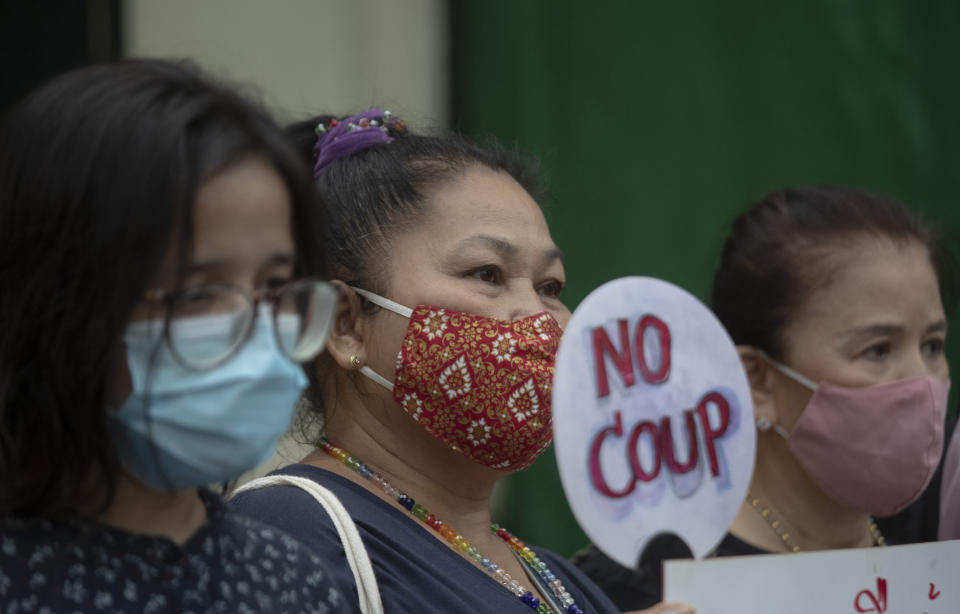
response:
<svg viewBox="0 0 960 614"><path fill-rule="evenodd" d="M309 170L268 116L195 68L131 60L62 75L0 134L0 513L106 505L111 365L194 197L256 156L285 181L298 272L321 274Z"/></svg>

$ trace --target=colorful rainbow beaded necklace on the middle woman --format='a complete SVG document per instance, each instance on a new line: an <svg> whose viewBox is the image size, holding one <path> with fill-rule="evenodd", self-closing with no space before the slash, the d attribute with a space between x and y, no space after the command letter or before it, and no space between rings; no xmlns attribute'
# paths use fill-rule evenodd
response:
<svg viewBox="0 0 960 614"><path fill-rule="evenodd" d="M531 591L527 590L525 586L514 580L510 574L506 572L506 570L502 569L488 557L483 556L483 554L477 550L475 546L471 545L469 541L464 539L464 537L457 533L450 525L429 513L426 508L415 502L399 489L395 488L393 485L387 482L382 475L372 470L360 459L351 456L346 450L336 447L327 441L326 438L321 439L321 443L323 444L323 451L329 456L337 459L350 469L353 469L364 478L379 486L385 493L387 493L387 495L393 499L396 499L397 503L399 503L404 509L422 520L428 527L439 533L441 537L443 537L451 546L453 546L454 550L479 565L480 568L493 576L497 582L503 585L511 593L519 597L520 601L528 605L530 609L536 610L537 614L551 614L553 610L550 606L548 606L546 603L541 603L539 599L534 597ZM509 531L496 523L490 525L490 530L513 549L517 560L520 561L521 565L524 566L527 574L534 582L540 584L539 581L542 580L543 584L549 588L549 591L552 592L553 596L556 598L556 601L558 602L557 605L560 606L561 612L565 612L566 614L583 614L583 610L577 607L577 604L574 603L573 597L563 586L563 582L560 581L560 578L550 571L550 568L547 567L546 562L538 557L533 550L531 550L526 544L517 539L515 536L511 535ZM538 588L540 588L544 595L548 594L542 585Z"/></svg>

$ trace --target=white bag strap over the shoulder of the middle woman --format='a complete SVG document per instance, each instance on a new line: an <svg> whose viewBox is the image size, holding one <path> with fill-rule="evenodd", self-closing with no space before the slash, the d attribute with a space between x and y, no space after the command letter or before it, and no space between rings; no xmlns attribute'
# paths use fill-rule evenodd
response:
<svg viewBox="0 0 960 614"><path fill-rule="evenodd" d="M310 493L317 503L323 506L333 520L333 526L337 530L337 535L340 536L340 543L343 544L343 551L347 555L350 571L353 572L361 614L383 614L380 589L377 587L377 577L373 573L373 565L370 564L367 549L363 545L363 540L360 539L357 525L354 524L337 496L313 480L292 475L269 475L251 480L235 490L231 496L268 486L295 486Z"/></svg>

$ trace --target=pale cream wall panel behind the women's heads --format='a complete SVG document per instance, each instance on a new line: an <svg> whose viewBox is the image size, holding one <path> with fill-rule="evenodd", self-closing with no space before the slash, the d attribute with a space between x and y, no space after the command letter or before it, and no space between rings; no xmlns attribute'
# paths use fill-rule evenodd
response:
<svg viewBox="0 0 960 614"><path fill-rule="evenodd" d="M283 120L383 105L448 119L444 0L126 0L128 57L190 57L253 84Z"/></svg>

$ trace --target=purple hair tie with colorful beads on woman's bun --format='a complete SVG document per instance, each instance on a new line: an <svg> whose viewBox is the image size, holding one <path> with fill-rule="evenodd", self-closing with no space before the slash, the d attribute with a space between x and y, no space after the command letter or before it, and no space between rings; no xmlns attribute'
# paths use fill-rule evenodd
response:
<svg viewBox="0 0 960 614"><path fill-rule="evenodd" d="M392 143L393 134L407 129L402 119L390 111L370 109L342 120L317 124L317 143L313 146L316 162L313 177L317 178L331 162L351 156L381 143Z"/></svg>

